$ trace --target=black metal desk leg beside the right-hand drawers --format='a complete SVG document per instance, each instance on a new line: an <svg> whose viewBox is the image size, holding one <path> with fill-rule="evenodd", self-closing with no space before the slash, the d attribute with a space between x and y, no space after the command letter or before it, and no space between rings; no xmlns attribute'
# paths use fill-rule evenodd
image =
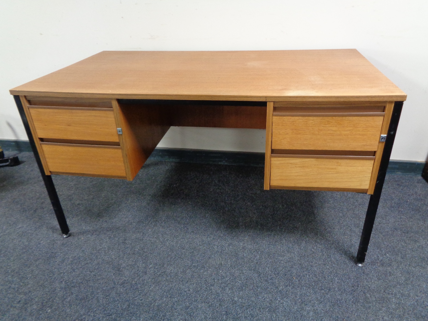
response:
<svg viewBox="0 0 428 321"><path fill-rule="evenodd" d="M370 196L369 206L367 208L366 220L364 221L363 232L361 233L360 246L358 247L356 263L363 266L366 260L367 249L369 248L370 236L372 235L373 224L375 223L377 206L380 201L383 183L385 181L386 170L388 169L389 158L391 157L392 146L394 145L395 133L397 132L398 121L400 120L402 101L396 101L392 110L391 122L389 123L388 134L386 134L385 146L383 147L382 158L380 159L379 172L375 191Z"/></svg>

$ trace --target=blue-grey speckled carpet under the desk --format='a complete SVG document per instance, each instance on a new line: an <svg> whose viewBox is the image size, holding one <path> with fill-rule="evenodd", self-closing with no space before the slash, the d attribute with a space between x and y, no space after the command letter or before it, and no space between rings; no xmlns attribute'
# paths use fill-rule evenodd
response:
<svg viewBox="0 0 428 321"><path fill-rule="evenodd" d="M263 168L149 160L132 182L0 168L1 320L427 320L428 184L263 190Z"/></svg>

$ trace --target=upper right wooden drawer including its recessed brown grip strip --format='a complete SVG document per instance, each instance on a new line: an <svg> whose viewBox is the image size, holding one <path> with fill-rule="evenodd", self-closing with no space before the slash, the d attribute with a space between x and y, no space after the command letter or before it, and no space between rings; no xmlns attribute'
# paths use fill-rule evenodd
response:
<svg viewBox="0 0 428 321"><path fill-rule="evenodd" d="M276 107L272 149L375 151L383 107Z"/></svg>

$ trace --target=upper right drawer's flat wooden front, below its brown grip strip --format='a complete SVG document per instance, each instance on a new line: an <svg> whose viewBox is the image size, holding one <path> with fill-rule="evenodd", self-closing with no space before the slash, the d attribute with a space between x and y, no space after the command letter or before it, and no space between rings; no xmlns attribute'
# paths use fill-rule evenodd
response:
<svg viewBox="0 0 428 321"><path fill-rule="evenodd" d="M273 116L272 149L375 151L383 116Z"/></svg>

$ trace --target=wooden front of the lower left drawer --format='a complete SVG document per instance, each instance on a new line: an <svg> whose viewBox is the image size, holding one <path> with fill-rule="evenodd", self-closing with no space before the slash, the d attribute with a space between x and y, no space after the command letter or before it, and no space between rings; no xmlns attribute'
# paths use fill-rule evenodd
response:
<svg viewBox="0 0 428 321"><path fill-rule="evenodd" d="M120 146L40 144L52 174L126 178Z"/></svg>

